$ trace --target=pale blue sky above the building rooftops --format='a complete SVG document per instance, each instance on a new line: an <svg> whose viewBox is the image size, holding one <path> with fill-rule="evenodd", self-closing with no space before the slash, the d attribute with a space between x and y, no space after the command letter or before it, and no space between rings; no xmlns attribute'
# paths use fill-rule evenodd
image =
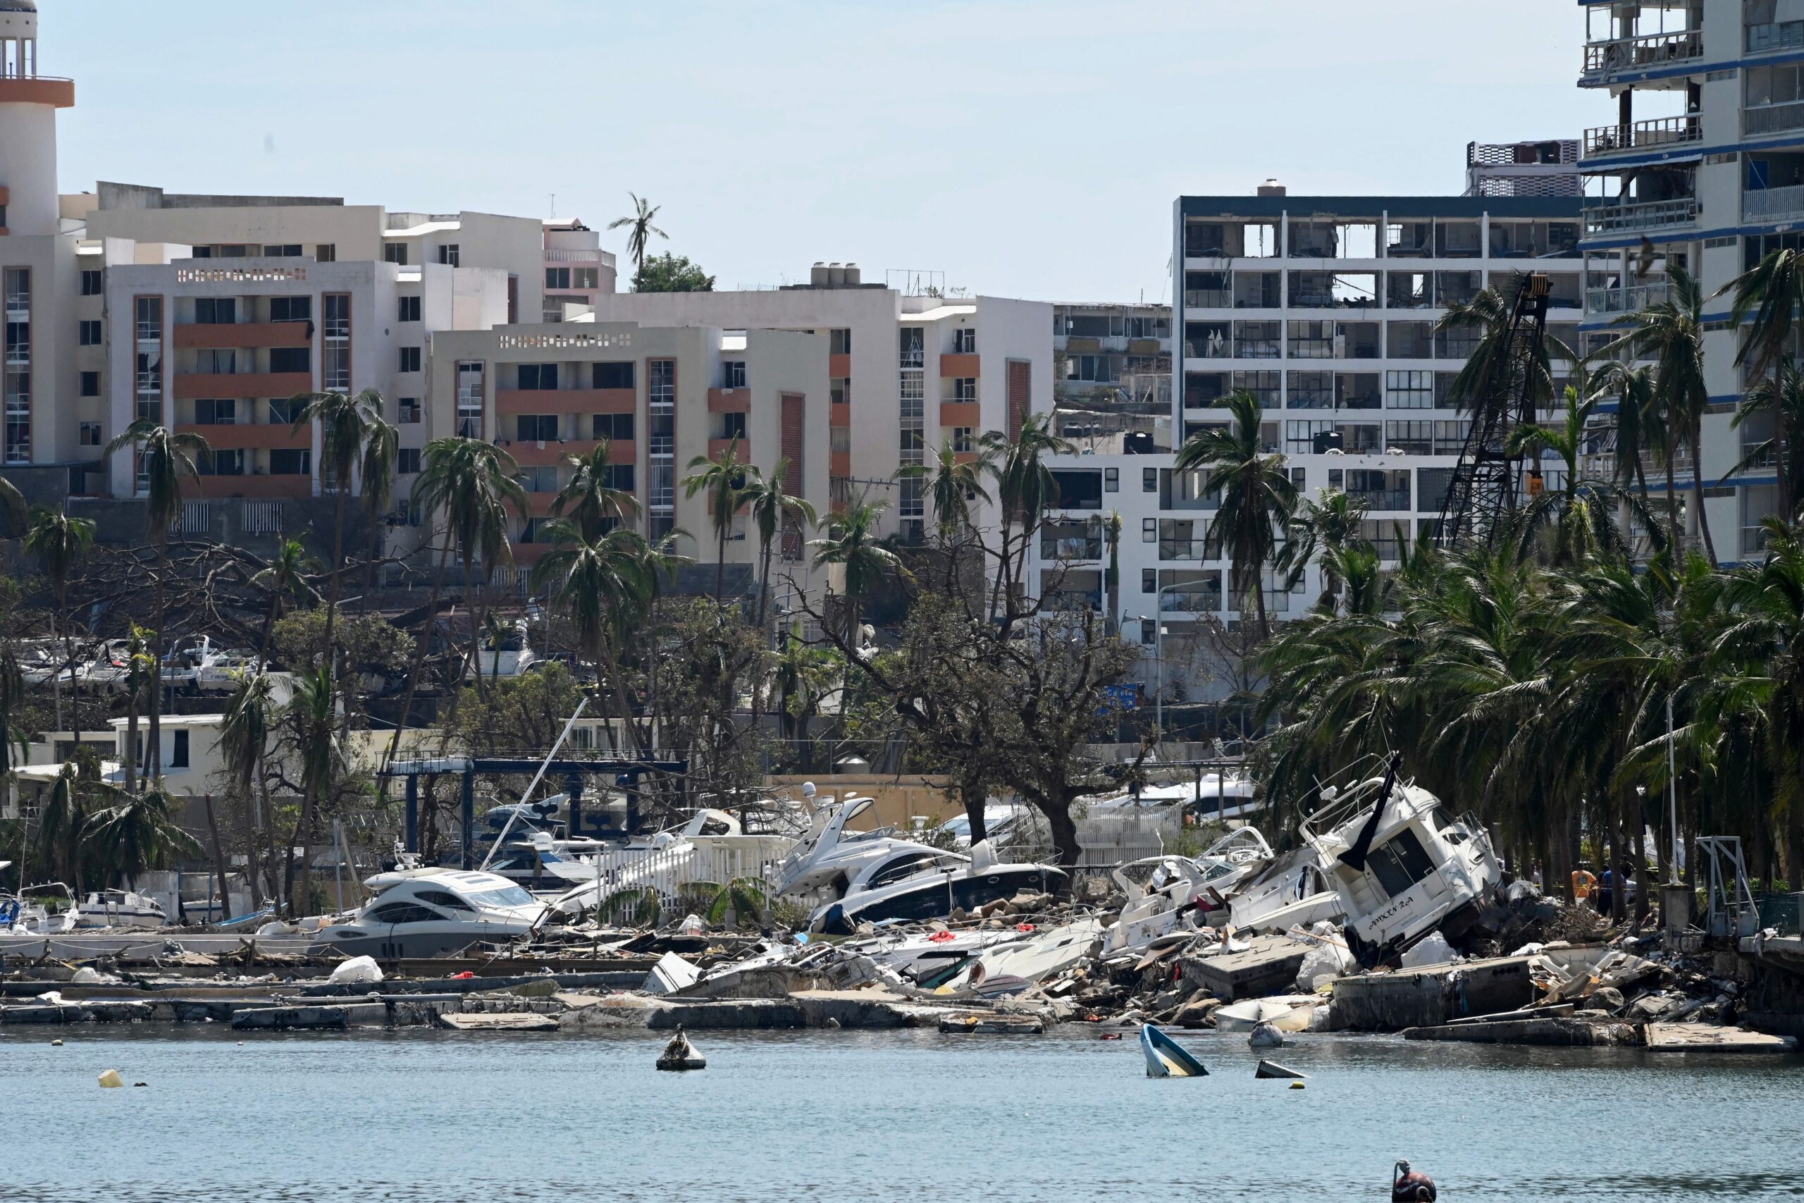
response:
<svg viewBox="0 0 1804 1203"><path fill-rule="evenodd" d="M1171 202L1458 193L1467 141L1613 119L1573 0L40 0L67 191L606 225L723 289L815 260L1165 299ZM619 234L604 245L621 249Z"/></svg>

